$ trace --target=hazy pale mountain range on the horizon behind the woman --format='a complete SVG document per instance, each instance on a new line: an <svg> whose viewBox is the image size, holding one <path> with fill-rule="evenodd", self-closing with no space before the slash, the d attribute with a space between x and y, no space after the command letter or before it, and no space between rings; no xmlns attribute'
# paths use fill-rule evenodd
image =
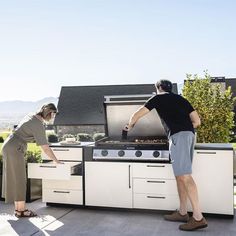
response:
<svg viewBox="0 0 236 236"><path fill-rule="evenodd" d="M0 114L12 114L12 113L28 113L37 111L45 103L54 103L57 105L58 98L46 97L41 100L32 101L5 101L0 102Z"/></svg>

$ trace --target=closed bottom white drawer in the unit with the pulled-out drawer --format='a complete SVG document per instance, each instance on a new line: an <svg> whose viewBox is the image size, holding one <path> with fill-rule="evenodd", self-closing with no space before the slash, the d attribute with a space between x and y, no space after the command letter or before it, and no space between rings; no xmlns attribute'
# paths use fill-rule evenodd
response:
<svg viewBox="0 0 236 236"><path fill-rule="evenodd" d="M43 202L83 204L83 191L67 189L44 189Z"/></svg>

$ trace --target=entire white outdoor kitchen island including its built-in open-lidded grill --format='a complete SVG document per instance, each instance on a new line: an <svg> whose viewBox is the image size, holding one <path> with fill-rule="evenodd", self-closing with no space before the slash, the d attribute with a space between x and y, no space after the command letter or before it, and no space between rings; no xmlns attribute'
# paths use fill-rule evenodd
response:
<svg viewBox="0 0 236 236"><path fill-rule="evenodd" d="M105 96L105 138L90 146L52 146L65 164L29 164L29 178L43 179L43 201L84 207L177 209L167 132L155 109L128 134L122 132L129 117L152 95ZM230 144L195 147L193 176L205 213L234 215L233 153Z"/></svg>

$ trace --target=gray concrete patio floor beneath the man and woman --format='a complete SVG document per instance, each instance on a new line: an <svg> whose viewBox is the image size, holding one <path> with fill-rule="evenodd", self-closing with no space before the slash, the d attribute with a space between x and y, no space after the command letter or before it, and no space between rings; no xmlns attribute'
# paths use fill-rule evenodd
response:
<svg viewBox="0 0 236 236"><path fill-rule="evenodd" d="M167 222L163 212L128 211L94 208L47 206L41 199L28 203L38 217L18 219L13 204L0 201L0 235L58 235L58 236L235 236L236 218L208 215L208 228L183 232L179 223Z"/></svg>

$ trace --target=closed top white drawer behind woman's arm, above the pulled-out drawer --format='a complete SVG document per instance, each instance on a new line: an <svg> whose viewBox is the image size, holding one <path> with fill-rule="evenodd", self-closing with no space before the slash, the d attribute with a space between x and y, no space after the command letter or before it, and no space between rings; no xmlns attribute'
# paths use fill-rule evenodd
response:
<svg viewBox="0 0 236 236"><path fill-rule="evenodd" d="M82 161L82 156L83 156L82 148L52 147L52 151L54 152L58 160ZM42 152L42 159L50 160L44 152Z"/></svg>

